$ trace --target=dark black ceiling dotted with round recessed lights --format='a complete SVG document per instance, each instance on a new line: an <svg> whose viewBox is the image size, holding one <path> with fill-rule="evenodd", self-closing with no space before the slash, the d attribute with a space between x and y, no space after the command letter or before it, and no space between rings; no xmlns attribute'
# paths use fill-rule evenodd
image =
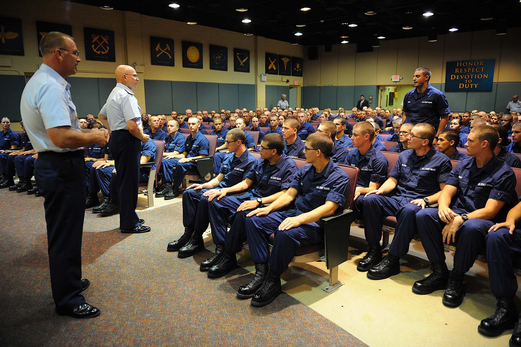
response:
<svg viewBox="0 0 521 347"><path fill-rule="evenodd" d="M427 36L429 34L449 34L449 29L457 32L519 27L519 0L257 0L257 1L210 1L210 0L69 0L93 6L110 6L116 10L140 12L143 15L189 21L192 12L198 25L226 29L241 33L274 38L302 45L339 44L341 35L345 40L358 46L374 44L376 36L385 40L395 38ZM177 3L173 9L168 4ZM309 11L300 11L309 7ZM246 8L247 11L235 11ZM366 15L373 11L376 15ZM424 17L426 11L433 16ZM102 13L102 12L100 12ZM407 13L410 13L407 15ZM244 24L242 19L252 22ZM481 18L492 18L481 20ZM407 23L411 24L407 24ZM296 24L306 26L297 28ZM351 28L342 23L355 23ZM412 26L410 30L403 26ZM302 36L295 36L300 31ZM295 41L297 40L297 41Z"/></svg>

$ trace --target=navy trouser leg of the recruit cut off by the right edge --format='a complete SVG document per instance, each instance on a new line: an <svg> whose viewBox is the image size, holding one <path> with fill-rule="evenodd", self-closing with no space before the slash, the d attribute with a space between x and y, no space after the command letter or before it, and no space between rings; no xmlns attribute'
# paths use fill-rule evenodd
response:
<svg viewBox="0 0 521 347"><path fill-rule="evenodd" d="M521 229L515 229L510 235L507 228L500 228L490 232L485 241L492 294L498 300L512 298L517 291L512 260L515 253L521 253Z"/></svg>

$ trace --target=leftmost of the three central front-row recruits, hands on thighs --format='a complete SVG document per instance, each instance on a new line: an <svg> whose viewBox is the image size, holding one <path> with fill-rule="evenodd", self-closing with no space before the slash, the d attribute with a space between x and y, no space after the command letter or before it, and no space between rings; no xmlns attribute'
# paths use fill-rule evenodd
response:
<svg viewBox="0 0 521 347"><path fill-rule="evenodd" d="M203 233L208 227L208 196L213 190L231 187L241 182L255 163L255 158L246 150L246 136L240 129L226 134L226 154L219 174L212 181L193 184L183 192L184 234L168 243L167 251L178 251L179 258L186 258L204 249Z"/></svg>

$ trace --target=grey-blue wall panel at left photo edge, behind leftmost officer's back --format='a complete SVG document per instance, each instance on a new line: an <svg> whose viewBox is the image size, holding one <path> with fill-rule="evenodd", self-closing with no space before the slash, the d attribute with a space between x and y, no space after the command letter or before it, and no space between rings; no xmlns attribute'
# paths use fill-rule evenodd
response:
<svg viewBox="0 0 521 347"><path fill-rule="evenodd" d="M23 88L26 86L26 79L21 75L0 75L0 109L11 122L19 122L20 99ZM505 104L506 105L506 104Z"/></svg>

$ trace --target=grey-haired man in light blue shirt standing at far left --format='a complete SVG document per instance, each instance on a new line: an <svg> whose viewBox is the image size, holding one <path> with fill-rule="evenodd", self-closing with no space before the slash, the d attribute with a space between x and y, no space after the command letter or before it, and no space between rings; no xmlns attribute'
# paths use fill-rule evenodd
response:
<svg viewBox="0 0 521 347"><path fill-rule="evenodd" d="M67 76L81 61L73 38L48 32L40 41L43 64L23 89L20 113L38 152L36 182L45 198L45 221L51 288L56 313L75 318L100 314L85 303L80 292L89 286L81 279L81 237L85 204L83 146L104 145L105 129L81 129L76 119ZM73 194L71 194L73 192Z"/></svg>

